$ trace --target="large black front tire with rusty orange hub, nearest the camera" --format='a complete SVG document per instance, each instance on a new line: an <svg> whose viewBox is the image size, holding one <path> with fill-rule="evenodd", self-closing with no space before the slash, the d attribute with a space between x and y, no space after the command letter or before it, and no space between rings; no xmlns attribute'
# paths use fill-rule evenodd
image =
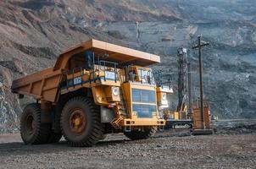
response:
<svg viewBox="0 0 256 169"><path fill-rule="evenodd" d="M99 106L83 96L74 97L65 104L60 127L71 146L92 146L103 138Z"/></svg>

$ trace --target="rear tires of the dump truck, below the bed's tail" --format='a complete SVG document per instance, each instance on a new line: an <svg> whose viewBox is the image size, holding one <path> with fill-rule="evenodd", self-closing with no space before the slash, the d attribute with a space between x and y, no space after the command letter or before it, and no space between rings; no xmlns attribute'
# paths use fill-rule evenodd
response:
<svg viewBox="0 0 256 169"><path fill-rule="evenodd" d="M47 144L51 124L41 123L41 106L32 103L25 106L20 118L20 135L25 144Z"/></svg>

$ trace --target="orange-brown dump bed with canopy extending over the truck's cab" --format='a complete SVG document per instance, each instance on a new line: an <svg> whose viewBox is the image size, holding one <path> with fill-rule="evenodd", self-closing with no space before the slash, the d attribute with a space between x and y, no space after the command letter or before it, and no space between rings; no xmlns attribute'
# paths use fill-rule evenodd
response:
<svg viewBox="0 0 256 169"><path fill-rule="evenodd" d="M136 63L139 66L148 66L160 62L159 56L92 39L61 53L53 68L46 68L36 74L15 79L12 91L20 95L33 96L38 100L55 102L63 72L69 70L67 65L70 58L74 56L83 58L86 51L92 51L95 57L100 57L99 59L120 65ZM108 57L100 54L108 54Z"/></svg>

